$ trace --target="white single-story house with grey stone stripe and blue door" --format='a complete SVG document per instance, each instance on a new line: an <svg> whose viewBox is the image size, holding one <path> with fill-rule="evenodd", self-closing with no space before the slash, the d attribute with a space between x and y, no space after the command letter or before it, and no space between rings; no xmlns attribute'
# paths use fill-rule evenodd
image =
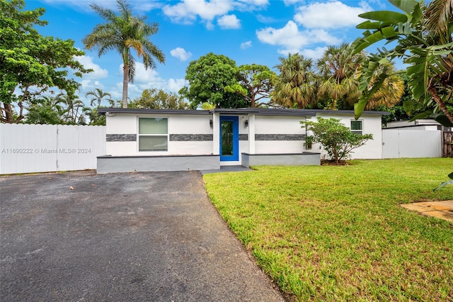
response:
<svg viewBox="0 0 453 302"><path fill-rule="evenodd" d="M382 112L239 108L148 110L99 108L106 116L106 155L98 173L219 169L224 165L320 164L323 150L306 150L300 121L339 118L358 133L372 133L353 158L382 158Z"/></svg>

